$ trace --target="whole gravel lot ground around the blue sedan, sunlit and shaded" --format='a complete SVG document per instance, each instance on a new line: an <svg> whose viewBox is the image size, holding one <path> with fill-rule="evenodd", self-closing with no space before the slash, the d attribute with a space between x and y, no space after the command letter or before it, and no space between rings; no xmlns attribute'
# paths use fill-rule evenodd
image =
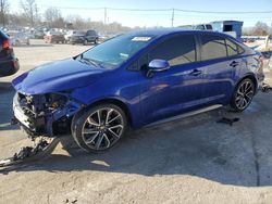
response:
<svg viewBox="0 0 272 204"><path fill-rule="evenodd" d="M33 40L15 53L22 73L87 48ZM9 126L15 76L0 79L0 157L28 142ZM0 171L0 203L272 203L271 105L272 93L259 93L242 114L221 109L133 131L102 154L59 144L44 161ZM240 120L217 124L222 116Z"/></svg>

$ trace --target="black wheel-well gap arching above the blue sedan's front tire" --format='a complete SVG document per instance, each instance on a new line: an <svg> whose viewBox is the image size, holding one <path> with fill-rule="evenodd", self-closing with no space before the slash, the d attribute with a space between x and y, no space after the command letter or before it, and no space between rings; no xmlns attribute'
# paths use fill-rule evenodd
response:
<svg viewBox="0 0 272 204"><path fill-rule="evenodd" d="M132 115L131 115L131 112L129 112L127 105L124 102L122 102L120 100L116 100L116 99L99 100L99 101L96 101L95 103L91 103L90 105L86 106L85 109L96 106L96 105L100 105L100 104L104 104L104 103L114 104L114 105L119 106L120 109L122 109L124 111L125 115L126 115L128 124L129 125L132 124Z"/></svg>

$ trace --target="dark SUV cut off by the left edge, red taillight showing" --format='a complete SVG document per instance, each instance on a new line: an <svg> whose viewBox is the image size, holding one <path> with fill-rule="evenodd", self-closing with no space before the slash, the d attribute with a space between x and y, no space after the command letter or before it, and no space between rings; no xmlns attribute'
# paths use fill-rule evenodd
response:
<svg viewBox="0 0 272 204"><path fill-rule="evenodd" d="M15 74L18 67L18 60L14 55L10 38L0 30L0 77Z"/></svg>

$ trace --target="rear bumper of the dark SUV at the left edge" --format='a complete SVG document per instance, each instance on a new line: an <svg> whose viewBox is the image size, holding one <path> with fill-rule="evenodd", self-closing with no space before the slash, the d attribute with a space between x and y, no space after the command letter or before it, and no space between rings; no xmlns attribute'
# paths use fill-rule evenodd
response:
<svg viewBox="0 0 272 204"><path fill-rule="evenodd" d="M18 68L20 64L17 59L0 61L0 77L13 75Z"/></svg>

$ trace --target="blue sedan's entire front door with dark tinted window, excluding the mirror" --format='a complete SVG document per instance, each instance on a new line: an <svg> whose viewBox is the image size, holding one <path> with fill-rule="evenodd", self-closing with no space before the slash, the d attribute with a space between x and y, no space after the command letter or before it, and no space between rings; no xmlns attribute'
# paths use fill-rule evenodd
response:
<svg viewBox="0 0 272 204"><path fill-rule="evenodd" d="M202 71L197 62L193 34L180 34L163 40L149 51L148 59L148 62L166 60L171 67L154 73L152 77L145 74L140 77L145 124L193 110L202 103Z"/></svg>

